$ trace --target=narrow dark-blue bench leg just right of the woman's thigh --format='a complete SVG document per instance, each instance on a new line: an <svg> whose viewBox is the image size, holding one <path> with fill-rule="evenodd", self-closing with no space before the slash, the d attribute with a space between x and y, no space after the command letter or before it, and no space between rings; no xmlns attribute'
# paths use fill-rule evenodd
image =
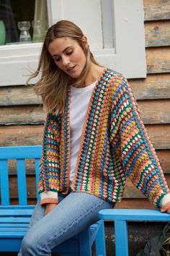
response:
<svg viewBox="0 0 170 256"><path fill-rule="evenodd" d="M104 221L100 221L99 230L95 238L97 256L106 256Z"/></svg>

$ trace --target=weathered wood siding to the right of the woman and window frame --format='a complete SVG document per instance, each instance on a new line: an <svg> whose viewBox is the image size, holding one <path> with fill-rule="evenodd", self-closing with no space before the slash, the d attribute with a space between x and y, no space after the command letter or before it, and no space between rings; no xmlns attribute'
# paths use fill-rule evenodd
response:
<svg viewBox="0 0 170 256"><path fill-rule="evenodd" d="M129 80L170 186L170 1L143 0L147 77ZM122 208L153 208L128 180Z"/></svg>

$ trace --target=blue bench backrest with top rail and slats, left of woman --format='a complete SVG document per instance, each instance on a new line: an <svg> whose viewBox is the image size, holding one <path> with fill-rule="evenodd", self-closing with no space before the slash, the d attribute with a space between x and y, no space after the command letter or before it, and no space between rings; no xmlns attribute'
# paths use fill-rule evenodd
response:
<svg viewBox="0 0 170 256"><path fill-rule="evenodd" d="M18 147L0 147L0 189L1 205L9 205L9 174L8 160L17 161L17 184L19 205L27 205L27 181L25 171L25 159L35 159L36 188L39 175L39 161L42 152L40 145L36 146L18 146ZM37 189L36 189L37 190ZM37 199L39 195L37 193Z"/></svg>

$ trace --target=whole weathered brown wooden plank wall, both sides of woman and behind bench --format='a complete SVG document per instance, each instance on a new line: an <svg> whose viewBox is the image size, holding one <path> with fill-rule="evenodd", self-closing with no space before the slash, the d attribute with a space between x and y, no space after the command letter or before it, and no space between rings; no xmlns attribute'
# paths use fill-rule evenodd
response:
<svg viewBox="0 0 170 256"><path fill-rule="evenodd" d="M140 113L170 185L170 1L144 0L146 79L130 79ZM32 87L0 87L0 145L40 145L45 113ZM27 161L28 196L35 202L33 161ZM17 202L16 163L9 162L10 196ZM120 208L152 205L128 180Z"/></svg>

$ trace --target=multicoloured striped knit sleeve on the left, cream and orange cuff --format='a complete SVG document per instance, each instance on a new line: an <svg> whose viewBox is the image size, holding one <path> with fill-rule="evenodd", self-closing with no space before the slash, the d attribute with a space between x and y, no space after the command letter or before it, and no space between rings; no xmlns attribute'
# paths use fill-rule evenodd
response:
<svg viewBox="0 0 170 256"><path fill-rule="evenodd" d="M48 114L42 140L38 192L41 205L58 203L61 117Z"/></svg>

